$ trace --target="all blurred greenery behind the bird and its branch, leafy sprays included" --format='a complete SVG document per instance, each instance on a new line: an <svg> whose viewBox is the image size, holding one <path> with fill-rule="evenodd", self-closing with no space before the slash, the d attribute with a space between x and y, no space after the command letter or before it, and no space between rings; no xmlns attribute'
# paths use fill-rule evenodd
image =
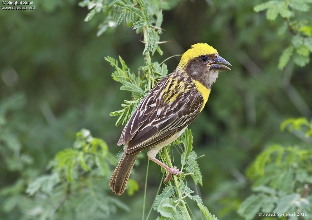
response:
<svg viewBox="0 0 312 220"><path fill-rule="evenodd" d="M233 66L190 126L193 149L205 155L198 158L203 204L218 219L259 218L261 210L311 213L311 2L161 2L170 2L161 41L171 42L153 62L207 42ZM0 217L140 219L146 155L134 167L131 197L108 187L122 130L109 114L129 94L112 80L104 57L120 55L137 73L142 38L131 25L115 26L102 8L83 22L89 11L73 0L34 6L0 10ZM178 60L165 62L169 73ZM285 119L300 117L307 120L288 120L283 128L291 132L281 131ZM147 210L162 175L149 164ZM158 215L152 211L150 219Z"/></svg>

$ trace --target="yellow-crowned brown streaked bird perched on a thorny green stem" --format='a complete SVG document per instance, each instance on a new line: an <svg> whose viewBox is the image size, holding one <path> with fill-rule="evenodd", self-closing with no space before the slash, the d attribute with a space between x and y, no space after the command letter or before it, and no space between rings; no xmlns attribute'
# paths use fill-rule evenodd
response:
<svg viewBox="0 0 312 220"><path fill-rule="evenodd" d="M182 172L156 158L158 152L175 141L203 110L219 70L232 66L207 43L193 44L181 57L177 68L160 80L140 101L125 125L118 146L123 155L110 178L110 188L121 195L139 153L148 149L149 160L162 166L168 175Z"/></svg>

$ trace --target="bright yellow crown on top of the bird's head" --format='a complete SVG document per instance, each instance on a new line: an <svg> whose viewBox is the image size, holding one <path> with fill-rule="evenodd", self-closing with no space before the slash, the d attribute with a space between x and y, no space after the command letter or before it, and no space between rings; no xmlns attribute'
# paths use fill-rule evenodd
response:
<svg viewBox="0 0 312 220"><path fill-rule="evenodd" d="M179 63L180 67L185 67L188 63L188 60L193 59L194 57L199 57L200 55L205 54L217 54L218 51L212 46L206 43L193 44L190 49L188 49L181 57Z"/></svg>

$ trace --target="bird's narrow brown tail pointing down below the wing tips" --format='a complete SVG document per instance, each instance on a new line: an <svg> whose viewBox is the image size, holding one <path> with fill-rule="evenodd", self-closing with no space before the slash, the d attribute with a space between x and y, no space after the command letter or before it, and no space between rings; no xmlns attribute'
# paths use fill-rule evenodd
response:
<svg viewBox="0 0 312 220"><path fill-rule="evenodd" d="M110 177L110 189L118 195L123 194L129 180L130 172L139 153L130 156L122 155L112 177Z"/></svg>

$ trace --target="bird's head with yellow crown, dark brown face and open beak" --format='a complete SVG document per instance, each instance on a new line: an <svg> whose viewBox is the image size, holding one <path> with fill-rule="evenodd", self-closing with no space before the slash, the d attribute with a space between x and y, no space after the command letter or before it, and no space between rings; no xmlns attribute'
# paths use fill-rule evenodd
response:
<svg viewBox="0 0 312 220"><path fill-rule="evenodd" d="M199 43L193 44L182 55L178 68L210 89L218 78L219 70L230 70L223 64L232 66L212 46Z"/></svg>

